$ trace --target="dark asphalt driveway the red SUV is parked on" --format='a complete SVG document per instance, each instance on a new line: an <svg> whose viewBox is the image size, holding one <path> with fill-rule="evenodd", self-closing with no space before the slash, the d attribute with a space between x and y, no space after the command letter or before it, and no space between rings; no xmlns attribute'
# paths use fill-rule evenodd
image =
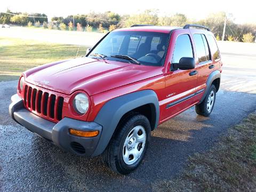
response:
<svg viewBox="0 0 256 192"><path fill-rule="evenodd" d="M11 121L7 107L17 81L0 83L0 191L150 191L173 178L189 155L209 149L256 108L256 54L222 56L227 65L210 118L191 108L159 126L142 165L126 176L111 173L100 157L65 153Z"/></svg>

